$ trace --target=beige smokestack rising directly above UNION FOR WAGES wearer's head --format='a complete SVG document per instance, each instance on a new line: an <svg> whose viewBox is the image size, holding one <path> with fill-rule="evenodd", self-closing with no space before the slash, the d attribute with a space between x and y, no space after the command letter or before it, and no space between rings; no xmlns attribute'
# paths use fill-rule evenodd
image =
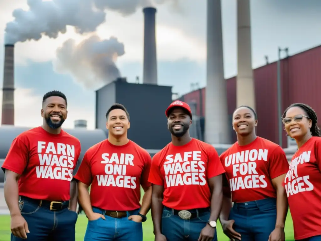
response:
<svg viewBox="0 0 321 241"><path fill-rule="evenodd" d="M255 90L251 54L250 0L237 1L238 20L238 74L236 77L237 106L255 109Z"/></svg>

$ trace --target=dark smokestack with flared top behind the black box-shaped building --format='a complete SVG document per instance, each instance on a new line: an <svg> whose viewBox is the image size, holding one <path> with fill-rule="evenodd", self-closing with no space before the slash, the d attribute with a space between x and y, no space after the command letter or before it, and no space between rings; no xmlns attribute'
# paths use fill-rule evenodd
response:
<svg viewBox="0 0 321 241"><path fill-rule="evenodd" d="M144 69L143 84L157 85L157 59L156 59L156 8L146 7L144 12Z"/></svg>

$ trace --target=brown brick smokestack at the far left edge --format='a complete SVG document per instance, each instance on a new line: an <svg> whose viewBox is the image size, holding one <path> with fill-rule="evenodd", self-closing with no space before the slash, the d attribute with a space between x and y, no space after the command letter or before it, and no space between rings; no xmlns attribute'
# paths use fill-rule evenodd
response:
<svg viewBox="0 0 321 241"><path fill-rule="evenodd" d="M14 125L14 45L4 45L2 125Z"/></svg>

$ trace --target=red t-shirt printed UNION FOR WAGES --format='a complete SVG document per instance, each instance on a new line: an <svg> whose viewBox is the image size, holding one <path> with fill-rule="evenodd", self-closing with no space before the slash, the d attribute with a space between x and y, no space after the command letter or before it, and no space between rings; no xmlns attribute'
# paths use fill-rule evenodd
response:
<svg viewBox="0 0 321 241"><path fill-rule="evenodd" d="M275 198L271 179L289 170L283 149L261 137L246 146L235 142L220 158L230 183L233 202Z"/></svg>

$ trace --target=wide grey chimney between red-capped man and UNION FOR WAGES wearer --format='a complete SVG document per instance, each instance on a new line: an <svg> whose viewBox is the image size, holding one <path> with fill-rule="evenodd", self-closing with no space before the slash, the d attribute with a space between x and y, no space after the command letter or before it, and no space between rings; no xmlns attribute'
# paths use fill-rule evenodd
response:
<svg viewBox="0 0 321 241"><path fill-rule="evenodd" d="M207 0L207 70L205 92L205 141L229 144L227 90L223 67L221 0Z"/></svg>

